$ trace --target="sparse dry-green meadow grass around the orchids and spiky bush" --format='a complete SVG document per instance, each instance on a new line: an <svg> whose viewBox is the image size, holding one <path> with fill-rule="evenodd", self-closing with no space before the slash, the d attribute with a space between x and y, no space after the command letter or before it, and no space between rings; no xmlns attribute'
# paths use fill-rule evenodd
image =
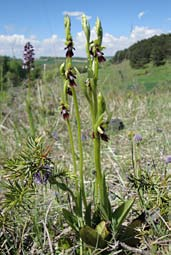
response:
<svg viewBox="0 0 171 255"><path fill-rule="evenodd" d="M84 63L82 63L84 64ZM52 63L54 68L54 63ZM55 69L52 70L55 72ZM47 69L48 76L48 69ZM85 74L83 74L85 77ZM53 78L53 79L52 79ZM136 202L125 224L140 215L143 209L150 215L158 214L158 223L151 222L150 228L140 227L140 250L149 249L149 254L169 254L169 191L164 178L164 157L171 154L171 74L170 64L165 66L133 70L127 62L120 65L105 63L100 68L99 85L102 89L112 118L122 119L125 128L120 131L109 128L110 140L102 144L102 168L106 173L113 208L122 199L136 197ZM72 170L67 128L61 118L60 95L62 81L59 76L49 75L48 81L35 81L32 87L31 103L37 136L44 137L44 151L50 148L50 158L55 164L55 170ZM84 146L84 161L86 167L86 190L92 192L92 178L94 175L92 158L92 130L90 129L89 108L80 86L76 87L81 105L82 133L86 135ZM4 162L17 157L25 148L26 138L29 136L29 123L25 112L25 87L11 88L0 97L0 168ZM71 112L72 114L72 112ZM75 120L71 123L76 128ZM142 142L136 147L136 157L140 165L143 178L141 182L149 187L144 191L142 209L135 180L130 182L133 174L130 132L142 135ZM57 139L53 138L54 133ZM76 135L74 136L76 138ZM5 174L3 172L3 174ZM1 175L1 180L4 181ZM71 178L71 179L70 179ZM73 176L65 181L71 182ZM1 182L2 185L2 182ZM152 187L154 186L154 189ZM32 196L32 206L28 211L18 208L1 214L0 247L1 254L71 254L74 247L79 245L77 237L70 230L62 215L62 207L68 209L66 192L55 187L38 186L37 196ZM3 190L3 187L0 187ZM3 198L3 192L0 193ZM72 203L72 201L71 201ZM152 216L149 216L152 217ZM151 218L150 218L151 219ZM149 219L148 219L149 220ZM68 246L66 245L68 240ZM68 250L60 251L59 243L64 240ZM115 242L111 244L115 246ZM10 250L11 249L11 250ZM84 248L83 254L96 254L95 251ZM116 250L111 249L111 254ZM135 252L132 252L136 254ZM78 254L78 253L77 253ZM125 254L130 254L125 251Z"/></svg>

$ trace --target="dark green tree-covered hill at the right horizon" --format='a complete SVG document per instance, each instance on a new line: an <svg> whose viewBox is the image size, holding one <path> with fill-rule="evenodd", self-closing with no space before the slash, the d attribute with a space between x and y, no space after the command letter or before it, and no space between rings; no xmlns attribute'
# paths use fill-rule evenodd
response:
<svg viewBox="0 0 171 255"><path fill-rule="evenodd" d="M149 39L138 41L128 49L117 51L111 59L112 63L129 60L133 68L144 67L149 62L155 66L165 64L171 59L171 34L155 35Z"/></svg>

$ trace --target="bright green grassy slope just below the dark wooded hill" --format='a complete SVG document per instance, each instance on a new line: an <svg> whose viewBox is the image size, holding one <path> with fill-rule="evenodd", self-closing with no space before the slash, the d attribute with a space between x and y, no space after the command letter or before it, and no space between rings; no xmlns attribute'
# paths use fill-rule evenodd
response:
<svg viewBox="0 0 171 255"><path fill-rule="evenodd" d="M171 64L154 67L149 64L143 69L132 69L128 61L118 65L105 63L100 71L100 80L104 90L143 90L150 91L171 84Z"/></svg>

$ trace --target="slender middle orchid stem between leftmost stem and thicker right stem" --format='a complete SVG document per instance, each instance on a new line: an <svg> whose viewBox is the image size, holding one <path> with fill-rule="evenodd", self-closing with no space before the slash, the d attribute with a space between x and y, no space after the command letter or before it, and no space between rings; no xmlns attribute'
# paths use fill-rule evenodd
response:
<svg viewBox="0 0 171 255"><path fill-rule="evenodd" d="M77 120L77 133L78 133L78 148L80 152L80 189L83 196L83 202L85 208L87 207L87 201L85 196L85 187L84 187L84 176L83 176L83 148L82 148L82 140L81 140L81 120L80 120L80 113L79 113L79 107L78 107L78 101L77 101L77 95L75 92L75 88L72 89L72 95L74 100L74 107L75 107L75 115Z"/></svg>

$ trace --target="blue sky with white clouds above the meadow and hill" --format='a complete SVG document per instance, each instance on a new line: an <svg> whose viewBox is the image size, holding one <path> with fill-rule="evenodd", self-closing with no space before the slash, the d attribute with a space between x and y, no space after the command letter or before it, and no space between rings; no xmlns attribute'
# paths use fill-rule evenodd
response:
<svg viewBox="0 0 171 255"><path fill-rule="evenodd" d="M80 17L85 13L95 37L98 16L104 32L106 55L154 34L171 32L171 0L2 0L0 55L22 54L31 41L37 55L63 55L64 14L69 14L77 55L84 55Z"/></svg>

